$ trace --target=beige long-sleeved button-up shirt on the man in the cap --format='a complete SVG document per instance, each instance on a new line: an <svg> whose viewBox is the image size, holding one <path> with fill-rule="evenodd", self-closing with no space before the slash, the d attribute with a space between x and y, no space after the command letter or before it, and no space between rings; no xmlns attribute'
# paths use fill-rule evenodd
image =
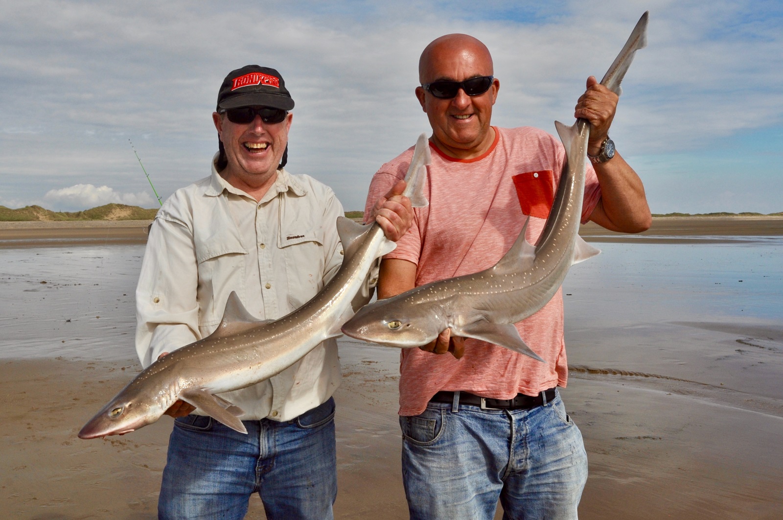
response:
<svg viewBox="0 0 783 520"><path fill-rule="evenodd" d="M298 309L342 262L334 192L285 169L260 201L217 172L177 190L150 228L136 288L136 351L143 367L207 337L231 291L261 320ZM244 421L288 421L325 402L340 384L337 342L323 341L280 374L221 394ZM194 413L200 413L196 410Z"/></svg>

